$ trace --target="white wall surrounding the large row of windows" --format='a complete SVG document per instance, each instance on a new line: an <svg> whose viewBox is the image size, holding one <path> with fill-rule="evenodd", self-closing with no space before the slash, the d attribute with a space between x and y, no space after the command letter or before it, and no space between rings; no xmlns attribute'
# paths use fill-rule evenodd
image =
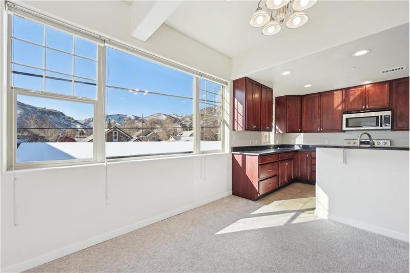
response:
<svg viewBox="0 0 410 273"><path fill-rule="evenodd" d="M216 77L230 78L228 57L168 26L161 26L146 43L132 38L130 8L125 3L19 3ZM0 4L3 17L4 2ZM4 19L0 24L1 271L29 269L232 194L227 153L109 163L107 180L104 164L16 171L13 192L13 172L5 170ZM226 125L229 126L229 119Z"/></svg>

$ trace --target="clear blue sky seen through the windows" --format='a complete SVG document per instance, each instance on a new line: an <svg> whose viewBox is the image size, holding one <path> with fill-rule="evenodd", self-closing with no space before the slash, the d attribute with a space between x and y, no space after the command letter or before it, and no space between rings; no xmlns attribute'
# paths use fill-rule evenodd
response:
<svg viewBox="0 0 410 273"><path fill-rule="evenodd" d="M13 35L15 37L44 45L44 26L29 20L13 16ZM46 27L46 45L59 50L75 53L91 59L96 59L97 46L90 41L73 37L70 34ZM74 41L74 43L73 43ZM74 44L74 47L73 47ZM164 45L166 46L166 45ZM44 47L13 39L12 60L34 67L44 67ZM75 57L74 74L76 76L96 79L97 64L87 58ZM73 56L64 52L46 49L46 69L71 74L73 71ZM43 70L15 65L13 70L43 75ZM46 72L47 76L71 80L71 76L60 73ZM76 80L93 82L83 78ZM107 48L107 85L127 89L148 90L162 94L178 95L188 98L175 98L153 94L144 95L143 92L112 89L106 90L107 114L133 114L149 116L155 113L164 114L192 114L193 113L193 80L192 75L165 67L154 62ZM34 90L43 90L43 78L13 74L12 84ZM207 85L201 80L201 89L216 93L221 92L219 85L209 82ZM46 79L45 91L72 94L72 84L69 81ZM92 85L75 83L74 95L95 98L96 88ZM220 100L220 96L201 91L201 98ZM189 99L191 98L191 99ZM33 106L55 109L77 120L92 117L89 104L69 103L65 101L19 96L19 101ZM204 107L201 104L201 108Z"/></svg>

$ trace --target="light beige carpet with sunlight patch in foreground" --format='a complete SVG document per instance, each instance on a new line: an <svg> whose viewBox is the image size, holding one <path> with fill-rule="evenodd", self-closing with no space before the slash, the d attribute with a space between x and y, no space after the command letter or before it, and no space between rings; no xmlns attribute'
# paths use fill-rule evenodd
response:
<svg viewBox="0 0 410 273"><path fill-rule="evenodd" d="M29 270L97 271L408 272L409 245L230 196Z"/></svg>

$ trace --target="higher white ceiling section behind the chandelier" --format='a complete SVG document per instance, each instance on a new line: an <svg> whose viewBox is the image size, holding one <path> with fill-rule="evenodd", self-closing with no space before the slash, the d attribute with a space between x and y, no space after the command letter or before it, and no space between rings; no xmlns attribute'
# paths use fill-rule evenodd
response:
<svg viewBox="0 0 410 273"><path fill-rule="evenodd" d="M307 24L355 3L357 1L319 1L305 11L309 16ZM262 35L261 28L249 25L257 5L258 1L185 1L165 23L224 55L234 57L276 39L277 35L295 31L282 27L277 35Z"/></svg>

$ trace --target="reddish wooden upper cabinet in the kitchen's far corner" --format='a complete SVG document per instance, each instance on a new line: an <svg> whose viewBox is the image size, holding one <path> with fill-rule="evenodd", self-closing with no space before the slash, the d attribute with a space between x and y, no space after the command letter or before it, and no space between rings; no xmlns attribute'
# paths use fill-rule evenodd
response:
<svg viewBox="0 0 410 273"><path fill-rule="evenodd" d="M301 96L280 96L275 99L276 133L300 133Z"/></svg>

